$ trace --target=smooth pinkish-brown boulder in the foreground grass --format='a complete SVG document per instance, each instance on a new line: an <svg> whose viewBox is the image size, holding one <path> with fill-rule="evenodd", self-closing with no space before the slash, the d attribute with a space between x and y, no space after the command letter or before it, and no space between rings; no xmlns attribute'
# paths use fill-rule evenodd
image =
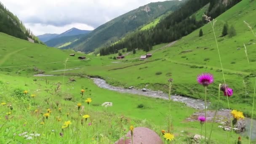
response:
<svg viewBox="0 0 256 144"><path fill-rule="evenodd" d="M125 135L126 139L121 138L115 144L131 144L131 131ZM160 136L149 128L139 127L133 130L133 144L163 144Z"/></svg>

